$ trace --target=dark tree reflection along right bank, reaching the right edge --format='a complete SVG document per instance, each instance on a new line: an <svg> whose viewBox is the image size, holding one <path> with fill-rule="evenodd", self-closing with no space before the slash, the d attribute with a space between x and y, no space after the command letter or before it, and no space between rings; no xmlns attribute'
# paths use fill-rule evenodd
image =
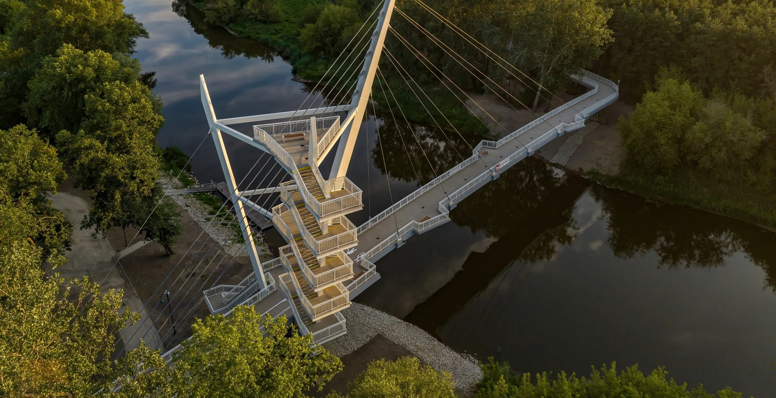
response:
<svg viewBox="0 0 776 398"><path fill-rule="evenodd" d="M608 246L617 257L654 251L668 267L719 267L738 251L762 267L776 292L776 239L755 225L680 206L645 204L636 195L594 186L608 215Z"/></svg>

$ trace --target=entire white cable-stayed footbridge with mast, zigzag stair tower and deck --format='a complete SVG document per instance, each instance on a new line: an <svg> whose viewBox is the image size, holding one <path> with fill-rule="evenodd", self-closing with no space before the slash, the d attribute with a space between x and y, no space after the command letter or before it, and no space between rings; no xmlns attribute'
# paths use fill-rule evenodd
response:
<svg viewBox="0 0 776 398"><path fill-rule="evenodd" d="M356 227L347 215L362 209L362 190L346 174L392 12L393 0L386 0L369 48L365 48L363 68L348 104L217 119L204 77L200 76L203 106L226 177L222 193L234 204L254 267L254 272L240 284L220 285L206 291L211 312L228 313L245 304L255 305L256 311L272 316L286 314L294 319L301 333L313 334L319 344L346 333L340 311L379 279L376 260L402 246L414 234L449 222L449 211L469 194L553 138L584 127L588 117L618 98L617 85L608 79L590 72L572 76L589 88L587 93L499 141L481 141L468 159ZM320 117L335 112L347 115ZM287 121L256 124L252 137L230 127L272 120ZM237 189L222 133L268 152L290 175L290 180L279 187L262 190L279 193L279 204L271 209L262 208L248 198L257 190ZM329 178L324 179L318 166L330 152L334 152L334 164ZM289 243L280 248L280 257L264 263L258 259L249 213L272 219Z"/></svg>

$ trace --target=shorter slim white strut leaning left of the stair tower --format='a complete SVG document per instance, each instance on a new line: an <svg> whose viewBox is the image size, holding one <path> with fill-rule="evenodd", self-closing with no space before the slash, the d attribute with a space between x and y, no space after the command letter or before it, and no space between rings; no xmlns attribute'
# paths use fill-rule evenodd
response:
<svg viewBox="0 0 776 398"><path fill-rule="evenodd" d="M213 110L213 103L210 102L210 93L207 92L204 75L199 75L199 90L202 96L202 106L205 108L207 123L210 124L210 134L213 135L213 143L216 145L218 160L220 161L221 169L223 170L223 178L227 181L227 188L229 189L231 196L230 199L232 204L234 204L234 212L237 213L237 221L240 222L240 229L242 230L243 239L245 239L245 247L248 249L248 257L251 257L251 265L253 265L253 271L256 274L256 281L258 281L259 287L263 289L266 288L267 281L264 278L262 262L261 260L258 260L258 253L256 251L256 244L253 241L251 225L248 225L248 217L245 215L240 192L237 190L237 182L234 180L232 166L229 162L229 155L227 155L227 148L223 145L221 131L216 125L216 112Z"/></svg>

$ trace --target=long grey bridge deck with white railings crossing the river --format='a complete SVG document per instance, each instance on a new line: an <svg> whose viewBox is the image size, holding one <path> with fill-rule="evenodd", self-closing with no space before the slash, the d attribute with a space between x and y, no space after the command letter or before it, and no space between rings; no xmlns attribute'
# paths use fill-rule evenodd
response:
<svg viewBox="0 0 776 398"><path fill-rule="evenodd" d="M590 72L585 72L584 77L573 79L591 90L500 141L482 141L474 149L471 158L361 225L359 246L350 254L356 264L361 259L372 262L379 260L393 248L401 246L410 236L448 222L449 210L469 194L496 179L505 169L532 155L553 138L584 127L587 117L618 98L618 87L608 79ZM487 153L480 157L483 151ZM371 283L365 284L365 287L368 285ZM362 290L352 292L351 299Z"/></svg>

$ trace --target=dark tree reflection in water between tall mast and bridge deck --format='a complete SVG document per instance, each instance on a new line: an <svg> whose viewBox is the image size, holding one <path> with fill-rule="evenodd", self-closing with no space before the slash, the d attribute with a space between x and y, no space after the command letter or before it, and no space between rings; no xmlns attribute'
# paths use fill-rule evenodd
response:
<svg viewBox="0 0 776 398"><path fill-rule="evenodd" d="M398 180L417 181L422 185L471 156L470 144L458 134L411 124L413 133L407 122L400 119L400 115L396 116L397 120L394 121L390 114L378 114L382 142L376 143L372 159L381 173L389 173Z"/></svg>

